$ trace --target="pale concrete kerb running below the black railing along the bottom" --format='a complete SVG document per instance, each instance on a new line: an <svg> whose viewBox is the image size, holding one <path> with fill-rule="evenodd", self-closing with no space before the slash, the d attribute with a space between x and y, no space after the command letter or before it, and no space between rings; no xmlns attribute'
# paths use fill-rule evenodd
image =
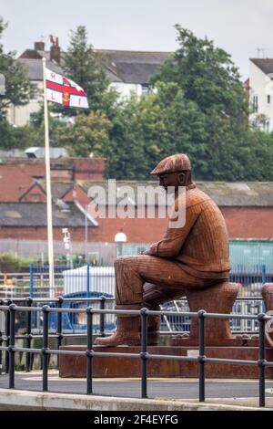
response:
<svg viewBox="0 0 273 429"><path fill-rule="evenodd" d="M272 402L268 408L258 408L257 398L225 403L224 399L215 399L213 403L197 401L167 401L165 399L116 398L88 396L83 394L45 393L1 389L0 411L99 411L101 415L118 411L272 411ZM269 402L269 401L268 401ZM92 416L90 423L94 423Z"/></svg>

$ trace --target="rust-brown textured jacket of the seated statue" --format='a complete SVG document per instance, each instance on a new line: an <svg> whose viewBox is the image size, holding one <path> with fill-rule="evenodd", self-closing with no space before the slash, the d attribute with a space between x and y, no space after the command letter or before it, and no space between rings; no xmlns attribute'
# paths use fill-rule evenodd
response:
<svg viewBox="0 0 273 429"><path fill-rule="evenodd" d="M178 194L176 211L179 198ZM148 254L170 258L194 277L227 279L227 226L217 204L194 183L187 186L185 225L168 227L163 239L153 244Z"/></svg>

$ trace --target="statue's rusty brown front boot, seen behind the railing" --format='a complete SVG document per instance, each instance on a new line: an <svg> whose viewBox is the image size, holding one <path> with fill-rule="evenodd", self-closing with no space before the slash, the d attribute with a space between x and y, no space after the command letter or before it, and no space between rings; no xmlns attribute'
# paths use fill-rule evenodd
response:
<svg viewBox="0 0 273 429"><path fill-rule="evenodd" d="M116 330L109 337L98 337L96 346L115 347L120 345L139 346L139 317L117 316Z"/></svg>

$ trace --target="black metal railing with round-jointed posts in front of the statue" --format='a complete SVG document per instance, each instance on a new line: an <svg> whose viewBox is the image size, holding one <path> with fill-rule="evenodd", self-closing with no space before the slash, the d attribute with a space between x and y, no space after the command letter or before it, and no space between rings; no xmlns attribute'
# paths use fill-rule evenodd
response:
<svg viewBox="0 0 273 429"><path fill-rule="evenodd" d="M57 300L58 303L61 303L61 299ZM217 314L217 313L207 313L205 310L200 309L198 312L187 312L183 313L184 316L190 318L197 318L199 321L199 336L198 336L198 356L189 357L189 356L176 356L176 355L162 355L162 354L151 354L147 351L147 317L149 315L161 316L168 315L167 311L151 311L148 309L141 310L115 310L115 309L104 309L105 299L101 299L101 309L92 309L87 307L86 309L62 309L60 306L57 308L50 308L48 305L44 305L42 308L21 307L16 306L15 303L9 305L0 306L0 311L4 311L6 315L6 336L0 336L0 351L7 352L8 364L7 371L9 373L9 388L15 388L15 352L25 352L29 353L39 353L43 359L43 392L48 391L48 361L49 357L52 354L56 355L74 355L74 356L85 356L86 357L86 394L90 395L93 393L93 360L97 357L117 357L117 358L129 358L129 359L139 359L141 361L141 397L147 398L147 361L150 359L160 359L168 361L192 361L196 362L198 365L198 381L199 381L199 402L205 402L206 391L205 391L205 368L206 363L232 363L238 365L250 365L258 367L258 386L259 386L259 395L258 395L258 405L264 407L266 405L266 378L265 370L267 367L273 367L273 362L267 361L266 358L266 344L265 344L265 330L266 322L270 320L270 317L264 313L258 314L258 316L252 315L235 315L235 314ZM43 316L43 344L41 349L34 349L31 347L16 347L15 340L15 313L18 311L25 311L27 314L31 314L33 311L40 312ZM86 351L64 351L59 350L59 346L62 342L62 313L69 312L74 313L79 311L86 314L86 324L87 324L87 345ZM56 338L58 340L57 349L50 349L48 347L48 340L50 338L50 333L48 330L48 319L50 313L57 313L58 315L58 332ZM172 312L173 315L181 314ZM127 314L127 315L139 315L141 319L141 347L139 353L117 353L117 352L102 352L93 350L93 322L94 317L99 315L101 319L101 334L105 335L104 331L104 318L106 314ZM207 358L206 343L205 343L205 322L206 319L257 319L258 320L258 336L259 336L259 345L258 345L258 360L257 361L248 361L248 360L236 360L236 359L219 359L219 358ZM29 328L29 325L28 325ZM27 333L27 340L31 340L30 334ZM5 346L3 346L5 342ZM29 343L27 344L30 345Z"/></svg>

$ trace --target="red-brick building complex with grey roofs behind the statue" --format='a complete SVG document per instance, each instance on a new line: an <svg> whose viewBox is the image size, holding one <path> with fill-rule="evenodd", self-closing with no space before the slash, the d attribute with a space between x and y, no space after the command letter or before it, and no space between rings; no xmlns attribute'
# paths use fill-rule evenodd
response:
<svg viewBox="0 0 273 429"><path fill-rule="evenodd" d="M128 244L149 244L162 237L167 219L109 218L97 214L88 191L99 186L106 194L100 204L106 213L113 206L108 202L108 181L103 180L105 160L95 158L51 159L52 196L54 208L54 239L64 251L62 228L68 227L77 253L84 247L115 246L115 235L123 231ZM133 196L128 206L136 211L135 195L139 186L157 182L116 181L116 189L129 186ZM220 207L227 222L231 239L272 239L273 237L273 183L197 182L197 187L210 195ZM161 188L162 193L164 193ZM118 200L117 200L118 203ZM114 207L116 211L116 205ZM24 243L36 243L46 249L46 188L45 161L40 158L5 158L0 162L0 252L20 249ZM106 245L107 244L107 245ZM36 248L36 247L35 247Z"/></svg>

